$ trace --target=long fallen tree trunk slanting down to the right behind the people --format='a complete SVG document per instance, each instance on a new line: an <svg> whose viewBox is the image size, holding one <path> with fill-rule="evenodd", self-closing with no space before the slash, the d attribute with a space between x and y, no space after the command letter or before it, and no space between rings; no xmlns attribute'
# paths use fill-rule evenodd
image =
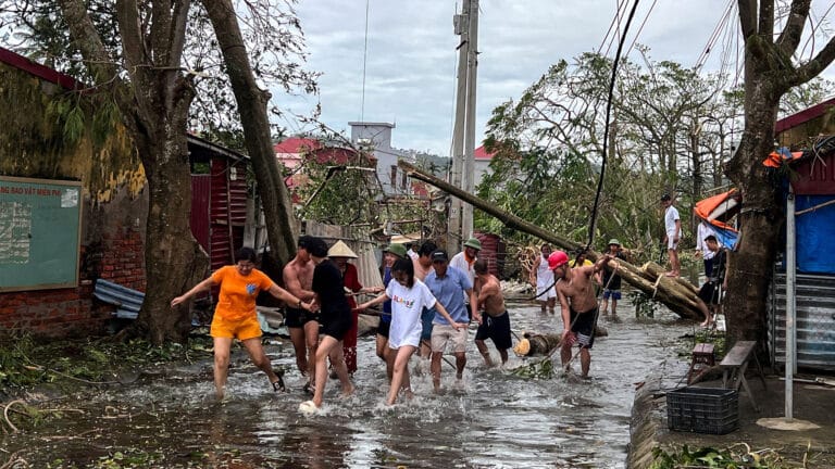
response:
<svg viewBox="0 0 835 469"><path fill-rule="evenodd" d="M495 205L478 199L477 197L463 191L449 182L438 179L433 175L426 174L418 167L400 160L398 166L403 168L410 177L422 180L426 183L435 186L436 188L461 199L462 201L473 205L482 212L495 217L501 221L508 228L524 231L528 234L533 234L544 241L560 246L565 250L575 250L577 248L584 248L584 245L571 241L559 234L552 233L541 227L527 223L522 218L508 213ZM600 256L600 253L589 250L588 258L596 261ZM616 266L618 274L623 280L640 290L646 295L662 303L669 307L673 313L687 319L702 319L703 316L698 308L698 296L696 296L695 288L686 288L682 286L682 282L687 283L684 279L672 279L664 277L663 275L652 275L644 272L640 268L619 259L616 263L609 263L609 268Z"/></svg>

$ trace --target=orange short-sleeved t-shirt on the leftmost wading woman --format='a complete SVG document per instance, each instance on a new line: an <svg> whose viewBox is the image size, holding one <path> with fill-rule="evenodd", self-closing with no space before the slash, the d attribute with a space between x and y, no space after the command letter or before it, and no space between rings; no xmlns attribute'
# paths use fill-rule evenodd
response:
<svg viewBox="0 0 835 469"><path fill-rule="evenodd" d="M273 281L261 270L252 269L242 276L235 266L221 267L212 274L212 280L221 286L214 314L230 320L254 315L259 291L273 287Z"/></svg>

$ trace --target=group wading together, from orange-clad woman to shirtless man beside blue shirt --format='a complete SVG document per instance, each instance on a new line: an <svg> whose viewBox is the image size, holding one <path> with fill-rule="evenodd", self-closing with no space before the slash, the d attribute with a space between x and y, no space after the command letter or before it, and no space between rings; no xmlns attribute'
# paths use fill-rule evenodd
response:
<svg viewBox="0 0 835 469"><path fill-rule="evenodd" d="M475 343L485 363L494 364L487 339L498 348L502 364L507 362L512 345L510 319L499 280L487 271L487 263L477 258L479 251L481 242L475 238L468 240L452 259L432 241L424 242L418 252L389 244L381 267L384 286L366 288L359 281L357 267L348 262L357 254L344 242L328 248L321 238L302 236L296 256L284 267L285 288L257 269L256 252L244 248L236 253L235 265L219 269L172 300L171 305L184 304L198 292L220 287L210 334L214 342L215 391L223 398L234 339L244 344L272 388L285 391L281 375L273 371L261 345L256 299L264 291L285 302L285 324L296 365L308 379L304 390L313 394L300 409L312 410L322 406L328 363L342 394L353 392L358 315L383 304L376 351L386 364L390 383L386 402L391 405L401 392L411 395L409 359L419 350L429 364L436 392L447 350L456 356L456 378L462 379L471 321L478 324ZM354 295L360 293L378 295L357 305Z"/></svg>

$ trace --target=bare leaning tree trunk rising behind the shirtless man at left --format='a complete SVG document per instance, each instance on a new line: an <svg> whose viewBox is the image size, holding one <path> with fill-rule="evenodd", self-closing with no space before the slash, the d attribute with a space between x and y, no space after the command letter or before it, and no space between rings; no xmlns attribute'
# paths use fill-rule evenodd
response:
<svg viewBox="0 0 835 469"><path fill-rule="evenodd" d="M214 27L238 102L247 151L263 203L271 254L283 266L296 251L298 229L294 223L290 195L273 150L266 113L270 92L260 89L256 83L232 2L203 0L203 5Z"/></svg>

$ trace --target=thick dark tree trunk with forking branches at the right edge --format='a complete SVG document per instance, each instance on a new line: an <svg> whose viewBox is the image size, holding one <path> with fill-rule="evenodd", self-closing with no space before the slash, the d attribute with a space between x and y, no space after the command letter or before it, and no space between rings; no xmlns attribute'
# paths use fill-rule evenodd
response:
<svg viewBox="0 0 835 469"><path fill-rule="evenodd" d="M783 210L777 181L762 161L771 153L780 99L792 87L818 76L835 60L830 39L811 60L796 65L797 51L809 17L811 0L794 0L775 35L773 0L737 0L745 38L745 130L739 150L728 162L727 176L743 194L738 251L730 258L725 314L733 339L765 335L769 280L776 253ZM814 34L814 33L812 33Z"/></svg>

